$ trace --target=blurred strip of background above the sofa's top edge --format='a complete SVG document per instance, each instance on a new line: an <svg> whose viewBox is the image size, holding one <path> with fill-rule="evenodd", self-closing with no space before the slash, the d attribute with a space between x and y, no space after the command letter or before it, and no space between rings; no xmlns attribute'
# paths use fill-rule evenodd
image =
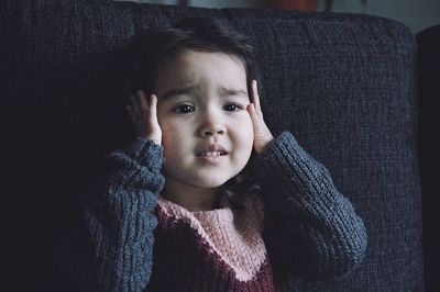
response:
<svg viewBox="0 0 440 292"><path fill-rule="evenodd" d="M117 0L121 1L121 0ZM274 8L373 14L405 23L414 34L440 23L440 0L123 0L206 8Z"/></svg>

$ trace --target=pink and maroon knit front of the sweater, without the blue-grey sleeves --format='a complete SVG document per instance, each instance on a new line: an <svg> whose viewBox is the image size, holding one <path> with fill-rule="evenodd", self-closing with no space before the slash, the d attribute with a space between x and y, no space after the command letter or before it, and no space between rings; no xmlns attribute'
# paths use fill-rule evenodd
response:
<svg viewBox="0 0 440 292"><path fill-rule="evenodd" d="M223 201L221 209L190 212L158 196L147 291L283 291L274 288L262 237L263 202L252 195L244 205Z"/></svg>

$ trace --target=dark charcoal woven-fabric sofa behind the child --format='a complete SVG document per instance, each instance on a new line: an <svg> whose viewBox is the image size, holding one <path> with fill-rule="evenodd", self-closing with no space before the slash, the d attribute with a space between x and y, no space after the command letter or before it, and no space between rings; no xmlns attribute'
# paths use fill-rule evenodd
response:
<svg viewBox="0 0 440 292"><path fill-rule="evenodd" d="M79 220L78 194L134 135L121 52L140 30L189 15L252 37L271 131L290 131L364 220L363 263L298 290L425 291L418 48L407 26L349 13L2 0L3 291L62 291L53 250Z"/></svg>

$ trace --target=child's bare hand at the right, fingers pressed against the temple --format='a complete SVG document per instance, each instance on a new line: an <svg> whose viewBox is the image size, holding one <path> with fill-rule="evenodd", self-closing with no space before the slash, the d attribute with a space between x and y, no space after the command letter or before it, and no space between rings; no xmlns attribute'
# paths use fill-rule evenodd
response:
<svg viewBox="0 0 440 292"><path fill-rule="evenodd" d="M268 130L266 123L263 120L263 112L260 105L260 97L256 88L256 80L252 80L252 93L254 97L254 102L250 103L246 110L251 115L252 125L254 128L255 153L257 155L261 155L274 139L274 136L272 135L271 131Z"/></svg>

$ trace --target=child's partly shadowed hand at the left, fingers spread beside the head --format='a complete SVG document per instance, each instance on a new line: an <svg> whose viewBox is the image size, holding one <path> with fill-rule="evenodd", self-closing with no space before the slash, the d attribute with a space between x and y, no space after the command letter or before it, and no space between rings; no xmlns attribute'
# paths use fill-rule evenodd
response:
<svg viewBox="0 0 440 292"><path fill-rule="evenodd" d="M125 109L133 122L138 137L154 141L162 144L162 130L157 121L157 96L150 96L150 103L146 102L145 93L138 90L136 94L130 94L132 105Z"/></svg>

